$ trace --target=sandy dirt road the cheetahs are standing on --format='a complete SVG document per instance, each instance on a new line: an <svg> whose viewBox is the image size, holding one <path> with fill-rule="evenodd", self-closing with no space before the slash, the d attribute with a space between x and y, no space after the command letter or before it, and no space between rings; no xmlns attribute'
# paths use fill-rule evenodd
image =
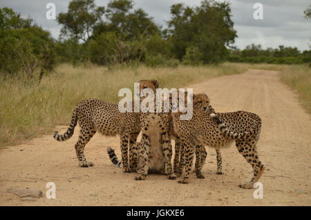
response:
<svg viewBox="0 0 311 220"><path fill-rule="evenodd" d="M216 154L208 148L202 170L205 179L191 178L187 185L151 174L134 181L134 173L111 166L106 148L117 148L119 138L95 137L86 145L86 158L95 163L79 168L71 139L57 142L52 135L0 150L0 205L8 206L310 206L311 121L296 95L279 81L278 72L249 70L189 85L206 92L218 112L245 110L263 119L258 153L266 170L261 177L263 199L254 190L238 188L249 181L252 168L235 146L224 149L223 171L216 175ZM68 123L70 118L68 118ZM77 126L78 127L78 126ZM66 126L57 130L64 132ZM46 183L56 185L56 199L46 199ZM36 201L21 201L9 188L44 192Z"/></svg>

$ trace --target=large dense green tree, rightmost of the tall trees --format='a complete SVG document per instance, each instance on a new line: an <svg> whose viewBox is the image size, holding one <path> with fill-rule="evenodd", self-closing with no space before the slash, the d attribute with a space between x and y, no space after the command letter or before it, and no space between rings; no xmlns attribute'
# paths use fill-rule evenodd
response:
<svg viewBox="0 0 311 220"><path fill-rule="evenodd" d="M225 59L227 46L237 37L228 2L203 0L194 8L178 3L171 6L171 15L167 37L178 59L181 60L190 47L202 52L204 63Z"/></svg>

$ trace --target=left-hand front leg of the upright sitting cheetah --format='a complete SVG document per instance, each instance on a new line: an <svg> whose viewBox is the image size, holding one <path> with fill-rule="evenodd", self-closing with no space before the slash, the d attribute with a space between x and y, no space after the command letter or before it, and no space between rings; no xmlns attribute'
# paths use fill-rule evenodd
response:
<svg viewBox="0 0 311 220"><path fill-rule="evenodd" d="M150 138L147 134L142 133L142 139L140 141L139 149L139 160L142 163L142 167L138 170L139 175L135 177L135 180L144 180L147 179L148 175L148 159L149 159L149 150L150 150Z"/></svg>

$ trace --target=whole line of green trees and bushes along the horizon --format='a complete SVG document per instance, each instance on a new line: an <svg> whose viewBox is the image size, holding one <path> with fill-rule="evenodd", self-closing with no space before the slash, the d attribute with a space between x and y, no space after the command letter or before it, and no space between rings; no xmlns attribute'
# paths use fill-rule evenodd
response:
<svg viewBox="0 0 311 220"><path fill-rule="evenodd" d="M310 62L310 50L301 53L283 46L262 50L255 45L245 50L232 48L237 34L229 2L203 0L194 7L176 3L170 9L171 19L162 28L147 12L134 8L132 0L111 0L105 7L96 6L94 0L72 0L68 11L57 16L62 30L59 39L53 39L32 19L0 8L0 71L23 71L31 78L39 70L41 79L62 62L171 67L226 60Z"/></svg>

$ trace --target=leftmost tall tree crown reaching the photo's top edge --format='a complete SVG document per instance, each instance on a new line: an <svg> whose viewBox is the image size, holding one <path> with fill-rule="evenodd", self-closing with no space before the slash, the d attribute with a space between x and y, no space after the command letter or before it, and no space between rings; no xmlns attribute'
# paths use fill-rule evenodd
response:
<svg viewBox="0 0 311 220"><path fill-rule="evenodd" d="M68 12L59 13L58 23L64 27L62 35L69 35L86 42L97 23L102 21L104 7L96 7L94 0L73 0L70 1Z"/></svg>

